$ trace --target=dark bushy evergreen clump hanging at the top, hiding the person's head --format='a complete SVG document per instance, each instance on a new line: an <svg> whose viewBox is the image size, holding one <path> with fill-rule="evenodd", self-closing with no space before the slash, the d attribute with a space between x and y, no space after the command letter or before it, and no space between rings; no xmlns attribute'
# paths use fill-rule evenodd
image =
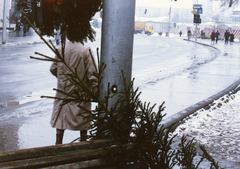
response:
<svg viewBox="0 0 240 169"><path fill-rule="evenodd" d="M17 6L19 10L28 8L28 3L19 0ZM101 8L101 0L44 0L42 17L34 18L32 22L41 35L54 36L54 29L61 27L61 32L67 32L71 41L93 41L95 31L89 22Z"/></svg>

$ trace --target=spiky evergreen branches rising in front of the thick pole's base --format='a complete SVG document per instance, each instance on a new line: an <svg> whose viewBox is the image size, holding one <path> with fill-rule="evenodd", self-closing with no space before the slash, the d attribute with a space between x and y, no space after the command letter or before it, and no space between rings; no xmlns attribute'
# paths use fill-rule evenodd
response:
<svg viewBox="0 0 240 169"><path fill-rule="evenodd" d="M35 31L37 31L35 29ZM39 34L40 35L40 34ZM42 38L42 36L40 35ZM43 38L42 38L43 39ZM43 39L44 40L44 39ZM44 42L55 53L57 59L37 53L41 57L31 57L44 61L62 62L69 69L70 73L64 73L66 79L74 85L75 88L67 95L66 98L56 98L52 96L43 96L52 99L61 99L63 104L69 102L97 102L95 109L88 110L89 115L84 116L86 122L91 121L90 139L113 139L115 144L105 148L103 154L108 155L109 163L118 165L119 168L151 168L151 169L172 169L176 165L182 169L197 169L200 163L206 159L211 163L211 169L219 169L218 163L207 153L204 146L200 145L201 159L194 164L194 158L197 156L196 141L194 139L187 141L185 136L182 137L179 149L173 147L176 135L170 133L170 128L165 128L161 124L165 114L164 102L155 112L154 107L150 103L142 103L139 99L141 92L138 88L134 88L134 81L126 84L126 78L122 73L124 82L124 90L116 94L111 93L108 87L103 100L99 100L96 89L101 89L101 72L106 65L99 62L95 64L93 75L95 80L85 81L78 76L78 72L72 69L65 61L64 55L51 43ZM62 53L64 53L64 44L62 44ZM93 56L92 56L93 59ZM98 66L97 66L98 65ZM97 85L92 85L97 84ZM89 86L94 86L90 88ZM110 84L109 84L110 86ZM79 94L83 93L83 94ZM109 100L117 97L117 101L113 107L109 108ZM81 115L81 114L80 114ZM83 115L82 115L83 116Z"/></svg>

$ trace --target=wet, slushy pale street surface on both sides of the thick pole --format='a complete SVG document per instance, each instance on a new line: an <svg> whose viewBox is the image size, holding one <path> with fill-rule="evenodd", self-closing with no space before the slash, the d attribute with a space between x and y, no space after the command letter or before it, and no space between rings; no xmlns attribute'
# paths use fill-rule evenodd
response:
<svg viewBox="0 0 240 169"><path fill-rule="evenodd" d="M99 40L94 47L98 44ZM141 98L165 101L170 116L223 90L240 77L237 45L220 41L215 45L218 51L179 38L136 35L133 77ZM39 96L53 95L56 79L49 73L51 63L29 58L35 51L52 55L44 44L0 47L0 151L54 144L55 130L49 124L52 100ZM12 101L20 105L4 107ZM64 142L78 135L66 132Z"/></svg>

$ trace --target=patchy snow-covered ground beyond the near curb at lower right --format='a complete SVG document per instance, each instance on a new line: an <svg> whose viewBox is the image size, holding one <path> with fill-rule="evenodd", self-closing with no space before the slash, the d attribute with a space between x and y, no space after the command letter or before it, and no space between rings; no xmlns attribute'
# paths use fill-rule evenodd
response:
<svg viewBox="0 0 240 169"><path fill-rule="evenodd" d="M206 146L219 160L240 161L240 92L215 101L209 110L199 110L176 130Z"/></svg>

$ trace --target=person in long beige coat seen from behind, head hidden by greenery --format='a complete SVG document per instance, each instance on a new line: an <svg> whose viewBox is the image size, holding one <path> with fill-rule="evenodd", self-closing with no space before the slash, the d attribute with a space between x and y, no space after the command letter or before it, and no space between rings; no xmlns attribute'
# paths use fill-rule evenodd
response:
<svg viewBox="0 0 240 169"><path fill-rule="evenodd" d="M68 35L67 35L68 36ZM64 60L73 69L76 70L79 77L85 82L95 79L92 72L95 70L94 61L92 60L90 54L90 48L86 47L80 42L72 41L68 37L70 42L66 43L64 50ZM61 50L61 47L59 49ZM57 56L55 57L57 59ZM69 80L66 79L64 74L69 73L68 68L62 62L53 62L50 67L51 73L57 77L57 98L67 98L65 94L59 91L64 91L69 93L75 86L71 84ZM91 86L89 86L91 87ZM82 95L77 93L77 95ZM82 108L80 108L82 107ZM86 123L82 116L78 116L86 112L86 110L91 110L90 102L76 103L69 102L67 104L62 104L60 99L55 99L54 108L51 116L51 126L56 128L56 143L62 144L63 134L66 129L80 131L81 141L86 141L87 130L90 129L91 123Z"/></svg>

